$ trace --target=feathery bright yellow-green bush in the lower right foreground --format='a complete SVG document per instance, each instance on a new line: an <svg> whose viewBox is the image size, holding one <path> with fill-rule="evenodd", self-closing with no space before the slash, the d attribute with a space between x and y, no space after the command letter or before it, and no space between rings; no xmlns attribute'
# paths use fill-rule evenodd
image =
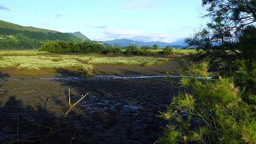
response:
<svg viewBox="0 0 256 144"><path fill-rule="evenodd" d="M167 112L161 112L170 124L160 142L255 144L256 111L244 100L248 93L235 86L234 78L209 79L207 68L208 62L201 62L189 70L195 77L182 77L180 84L192 92L174 96Z"/></svg>

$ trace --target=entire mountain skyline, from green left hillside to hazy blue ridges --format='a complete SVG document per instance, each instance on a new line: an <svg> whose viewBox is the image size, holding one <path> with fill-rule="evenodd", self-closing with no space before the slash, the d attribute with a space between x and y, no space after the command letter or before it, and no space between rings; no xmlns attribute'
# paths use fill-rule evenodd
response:
<svg viewBox="0 0 256 144"><path fill-rule="evenodd" d="M49 41L64 40L68 42L82 42L82 40L89 40L80 32L62 33L54 30L46 30L42 28L34 28L32 26L20 26L10 22L0 20L0 49L38 49L42 44ZM96 41L90 41L96 42ZM158 45L158 48L164 48L170 45L173 48L184 48L184 39L177 42L140 42L129 39L115 39L109 41L102 41L103 43L126 47L129 45L150 46ZM97 42L96 42L97 43Z"/></svg>

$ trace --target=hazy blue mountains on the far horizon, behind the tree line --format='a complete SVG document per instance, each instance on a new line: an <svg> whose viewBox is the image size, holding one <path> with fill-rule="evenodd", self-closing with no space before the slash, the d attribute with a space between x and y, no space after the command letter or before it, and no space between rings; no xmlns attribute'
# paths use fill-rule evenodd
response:
<svg viewBox="0 0 256 144"><path fill-rule="evenodd" d="M184 48L184 39L180 39L177 42L172 43L166 43L166 42L140 42L140 41L134 41L129 39L115 39L115 40L108 40L108 41L102 41L106 44L110 45L116 45L116 46L122 46L126 47L129 45L136 45L138 47L140 46L150 46L152 47L154 44L157 44L159 48L164 48L165 46L170 45L173 48Z"/></svg>

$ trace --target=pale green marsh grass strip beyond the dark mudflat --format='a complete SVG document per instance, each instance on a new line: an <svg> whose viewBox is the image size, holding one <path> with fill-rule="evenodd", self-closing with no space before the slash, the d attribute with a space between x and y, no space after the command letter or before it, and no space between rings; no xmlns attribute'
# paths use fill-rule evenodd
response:
<svg viewBox="0 0 256 144"><path fill-rule="evenodd" d="M17 70L38 71L41 68L78 68L88 73L93 72L93 64L120 64L151 66L164 64L169 58L153 57L106 57L100 54L55 55L55 56L4 56L0 68L16 67Z"/></svg>

